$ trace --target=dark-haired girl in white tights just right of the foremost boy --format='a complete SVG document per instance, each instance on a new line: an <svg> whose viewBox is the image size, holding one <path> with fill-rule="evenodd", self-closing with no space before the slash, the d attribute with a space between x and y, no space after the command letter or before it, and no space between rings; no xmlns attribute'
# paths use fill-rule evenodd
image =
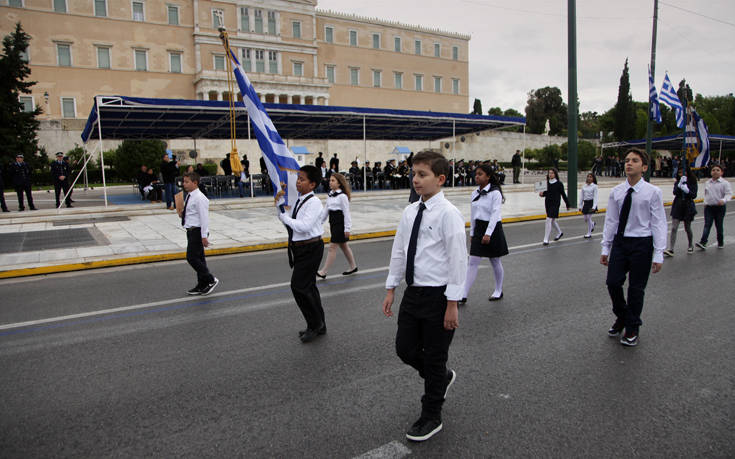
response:
<svg viewBox="0 0 735 459"><path fill-rule="evenodd" d="M495 275L495 290L488 300L497 301L503 298L505 271L500 257L508 254L508 244L500 221L500 206L505 198L500 189L500 179L489 165L481 164L477 167L475 182L479 188L472 192L470 204L470 261L460 303L467 302L467 295L477 278L477 269L483 258L490 259Z"/></svg>

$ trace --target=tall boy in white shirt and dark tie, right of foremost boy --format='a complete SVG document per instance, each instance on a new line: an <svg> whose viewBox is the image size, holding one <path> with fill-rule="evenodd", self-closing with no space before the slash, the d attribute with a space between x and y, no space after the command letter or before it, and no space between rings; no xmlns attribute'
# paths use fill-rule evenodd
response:
<svg viewBox="0 0 735 459"><path fill-rule="evenodd" d="M666 249L666 213L661 189L642 179L648 155L630 150L625 155L627 180L612 189L605 214L600 263L607 266L607 289L616 320L608 336L624 346L638 345L643 296L649 271L661 270ZM623 293L628 278L628 298Z"/></svg>

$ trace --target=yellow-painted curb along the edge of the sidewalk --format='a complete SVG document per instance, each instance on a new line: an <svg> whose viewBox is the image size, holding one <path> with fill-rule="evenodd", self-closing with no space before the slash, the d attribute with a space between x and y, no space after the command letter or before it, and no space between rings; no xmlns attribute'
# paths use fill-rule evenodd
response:
<svg viewBox="0 0 735 459"><path fill-rule="evenodd" d="M701 203L704 202L703 199L695 199L695 203ZM671 206L671 202L665 202L664 206ZM606 209L598 209L597 213L602 214L605 213ZM567 211L567 212L559 212L559 217L574 217L577 215L582 215L582 212L580 211ZM527 221L535 221L535 220L544 220L546 219L546 214L537 214L537 215L525 215L522 217L509 217L509 218L503 218L501 221L505 223L519 223L519 222L527 222ZM465 223L465 227L469 228L470 224L469 222ZM378 239L382 237L393 237L396 234L396 230L388 230L388 231L374 231L369 233L362 233L362 234L355 234L351 235L351 240L360 240L360 239ZM323 238L325 243L329 242L328 238ZM253 244L253 245L245 245L245 246L239 246L239 247L227 247L223 249L211 249L206 250L205 254L208 257L211 256L218 256L218 255L233 255L233 254L239 254L239 253L248 253L248 252L263 252L266 250L276 250L276 249L283 249L288 246L287 242L272 242L268 244ZM158 255L144 255L144 256L138 256L138 257L128 257L128 258L117 258L112 260L98 260L98 261L87 261L83 263L69 263L69 264L63 264L63 265L52 265L52 266L40 266L37 268L23 268L23 269L9 269L6 271L0 271L0 279L12 279L16 277L28 277L28 276L38 276L43 274L57 274L57 273L65 273L65 272L71 272L71 271L85 271L88 269L100 269L100 268L112 268L116 266L128 266L128 265L137 265L137 264L146 264L146 263L156 263L160 261L174 261L174 260L185 260L186 259L186 252L172 252L172 253L162 253Z"/></svg>

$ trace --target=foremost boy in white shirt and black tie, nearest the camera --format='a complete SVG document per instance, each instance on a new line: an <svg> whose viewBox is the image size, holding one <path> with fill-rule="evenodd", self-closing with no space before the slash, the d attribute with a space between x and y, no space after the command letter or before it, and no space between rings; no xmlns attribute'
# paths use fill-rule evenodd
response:
<svg viewBox="0 0 735 459"><path fill-rule="evenodd" d="M457 376L446 363L459 326L457 301L467 271L467 243L464 219L441 191L449 176L446 158L422 151L413 158L413 172L421 199L406 207L398 224L383 313L393 315L395 288L405 277L396 353L424 379L421 416L406 433L409 440L423 441L442 429L442 404Z"/></svg>

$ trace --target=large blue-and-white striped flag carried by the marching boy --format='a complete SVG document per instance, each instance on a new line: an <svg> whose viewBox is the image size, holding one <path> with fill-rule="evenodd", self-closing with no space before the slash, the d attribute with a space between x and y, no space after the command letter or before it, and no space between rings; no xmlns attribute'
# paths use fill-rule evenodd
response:
<svg viewBox="0 0 735 459"><path fill-rule="evenodd" d="M286 147L283 139L278 134L263 104L260 103L255 88L250 83L245 70L232 50L230 50L230 60L232 61L232 69L235 72L235 80L237 80L237 85L242 93L242 101L248 110L250 123L253 125L255 137L258 139L258 145L263 152L268 177L273 183L273 194L275 195L281 189L281 183L288 184L286 194L279 200L279 204L293 206L299 197L296 191L296 178L301 166L299 166L296 157Z"/></svg>

